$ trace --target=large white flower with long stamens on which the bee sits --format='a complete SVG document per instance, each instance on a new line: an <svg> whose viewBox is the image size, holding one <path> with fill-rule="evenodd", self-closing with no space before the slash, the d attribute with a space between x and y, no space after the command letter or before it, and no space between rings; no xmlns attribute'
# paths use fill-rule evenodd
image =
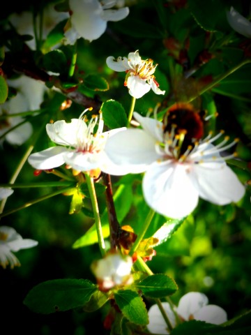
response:
<svg viewBox="0 0 251 335"><path fill-rule="evenodd" d="M236 141L225 145L211 144L222 135L208 135L204 140L188 145L180 152L182 137L175 135L174 128L164 131L162 122L142 117L137 112L135 119L143 129L128 128L107 141L107 156L118 165L116 175L145 172L143 178L144 198L155 211L171 218L190 214L197 206L199 197L225 205L238 202L245 188L236 174L227 166L221 151L229 149Z"/></svg>

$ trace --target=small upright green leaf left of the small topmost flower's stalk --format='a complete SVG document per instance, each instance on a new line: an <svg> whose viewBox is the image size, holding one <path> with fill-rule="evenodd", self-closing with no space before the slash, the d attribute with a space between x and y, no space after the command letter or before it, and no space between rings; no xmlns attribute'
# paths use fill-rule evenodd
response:
<svg viewBox="0 0 251 335"><path fill-rule="evenodd" d="M102 103L102 117L110 129L125 127L127 124L126 111L118 101L109 100Z"/></svg>

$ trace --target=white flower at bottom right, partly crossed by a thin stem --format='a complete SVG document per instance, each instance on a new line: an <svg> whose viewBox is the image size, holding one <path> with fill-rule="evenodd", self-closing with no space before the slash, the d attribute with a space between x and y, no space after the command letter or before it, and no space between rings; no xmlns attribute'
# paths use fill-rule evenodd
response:
<svg viewBox="0 0 251 335"><path fill-rule="evenodd" d="M173 327L176 327L176 318L168 302L162 302ZM213 325L221 325L227 321L227 313L217 305L208 305L208 298L200 292L189 292L181 297L176 308L176 313L183 321L200 320ZM149 308L149 325L147 328L151 333L169 334L167 324L160 313L158 305Z"/></svg>

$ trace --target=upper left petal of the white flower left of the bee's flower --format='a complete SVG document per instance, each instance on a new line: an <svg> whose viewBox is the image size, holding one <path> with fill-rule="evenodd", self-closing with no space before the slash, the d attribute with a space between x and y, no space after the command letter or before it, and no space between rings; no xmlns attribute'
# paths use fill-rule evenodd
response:
<svg viewBox="0 0 251 335"><path fill-rule="evenodd" d="M77 147L78 136L82 137L86 129L86 123L81 119L71 119L70 123L60 120L46 125L47 135L53 142L71 147Z"/></svg>

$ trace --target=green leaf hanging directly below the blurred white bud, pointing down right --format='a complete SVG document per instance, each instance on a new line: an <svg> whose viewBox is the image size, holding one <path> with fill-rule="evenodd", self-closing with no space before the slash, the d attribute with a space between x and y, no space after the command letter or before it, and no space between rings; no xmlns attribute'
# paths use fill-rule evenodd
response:
<svg viewBox="0 0 251 335"><path fill-rule="evenodd" d="M119 290L114 293L119 309L130 322L136 325L147 325L149 322L146 305L142 297L132 290Z"/></svg>

